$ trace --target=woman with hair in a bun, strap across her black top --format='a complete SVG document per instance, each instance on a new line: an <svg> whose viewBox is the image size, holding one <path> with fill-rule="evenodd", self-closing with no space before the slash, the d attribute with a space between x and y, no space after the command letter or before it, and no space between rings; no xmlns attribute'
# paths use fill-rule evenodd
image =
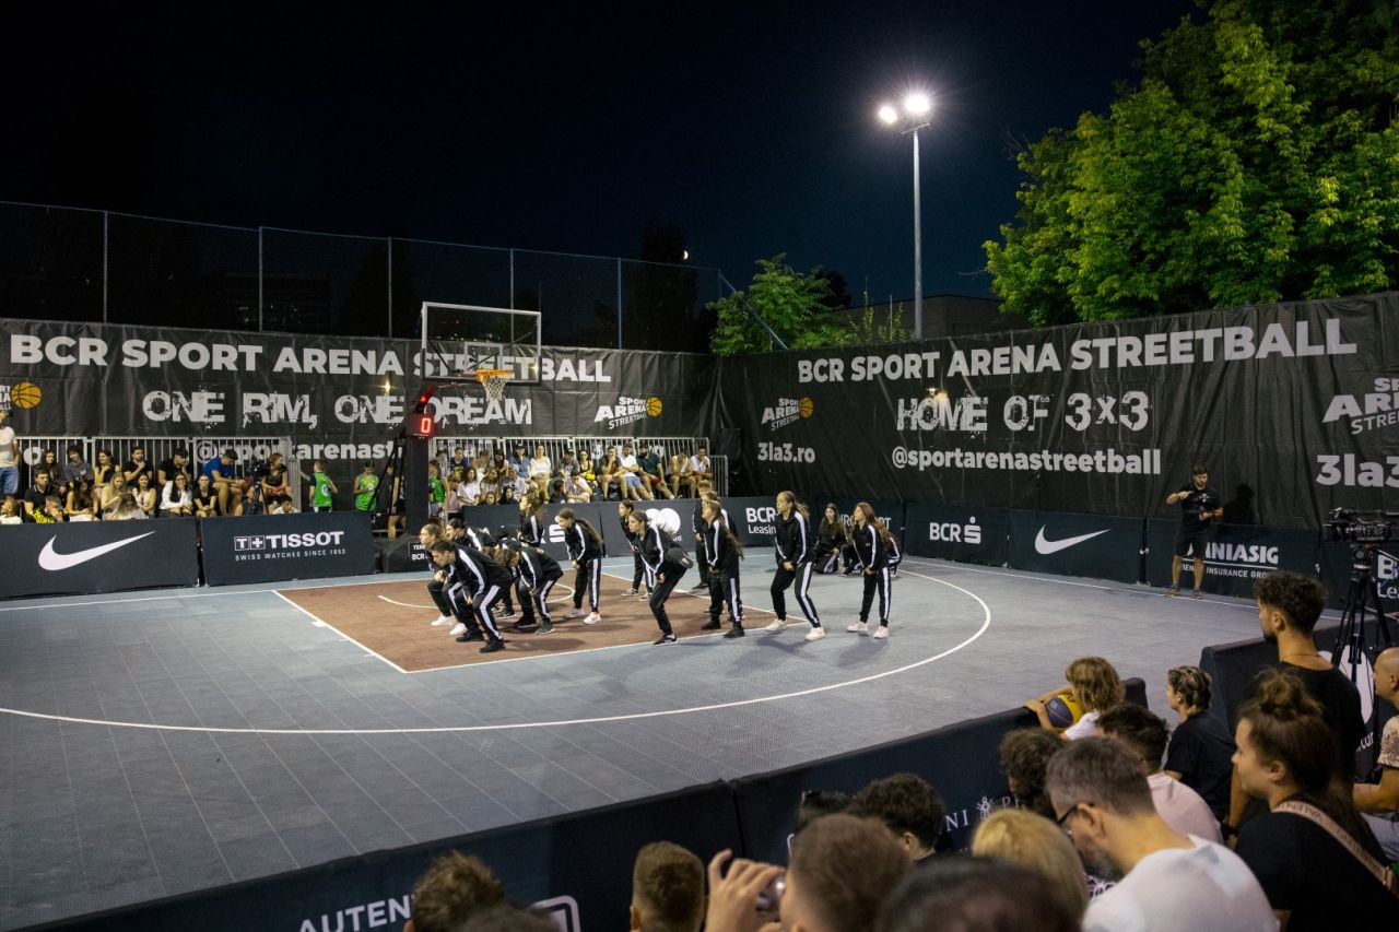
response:
<svg viewBox="0 0 1399 932"><path fill-rule="evenodd" d="M1399 929L1399 898L1378 876L1384 851L1336 772L1321 704L1301 680L1265 676L1240 709L1234 742L1240 784L1267 803L1238 830L1238 856L1288 932L1335 929L1337 910Z"/></svg>

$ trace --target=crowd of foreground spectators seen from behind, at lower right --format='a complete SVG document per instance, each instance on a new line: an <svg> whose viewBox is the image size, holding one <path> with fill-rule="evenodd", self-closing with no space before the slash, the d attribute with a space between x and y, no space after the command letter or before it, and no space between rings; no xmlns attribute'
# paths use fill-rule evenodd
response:
<svg viewBox="0 0 1399 932"><path fill-rule="evenodd" d="M1379 781L1354 782L1358 693L1316 654L1321 584L1274 572L1255 596L1277 665L1259 676L1233 735L1210 715L1212 682L1199 668L1167 672L1172 732L1125 698L1107 659L1079 658L1067 684L1027 704L1042 726L1003 736L1011 802L978 823L970 851L949 851L946 805L915 774L852 795L809 791L785 865L719 851L706 852L705 866L667 841L644 847L630 928L1399 928L1389 866L1399 855L1399 716L1384 729ZM1399 698L1399 648L1378 656L1375 680L1381 698ZM1065 694L1084 709L1072 725L1045 715ZM463 861L490 876L457 854L439 863ZM445 877L434 868L416 889L425 897L413 907L420 932L485 928L474 918L485 910L515 910L519 922L529 915L499 905L498 882L484 884L487 903L470 893L483 889L478 880ZM455 883L460 910L435 911L425 925L420 910L445 898L429 883Z"/></svg>

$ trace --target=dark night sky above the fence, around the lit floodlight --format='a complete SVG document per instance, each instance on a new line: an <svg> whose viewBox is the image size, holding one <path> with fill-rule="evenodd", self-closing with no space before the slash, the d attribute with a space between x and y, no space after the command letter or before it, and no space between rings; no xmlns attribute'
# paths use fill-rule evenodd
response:
<svg viewBox="0 0 1399 932"><path fill-rule="evenodd" d="M56 4L55 4L56 6ZM1102 111L1191 0L919 4L190 4L11 18L0 199L600 256L648 221L743 287L786 252L912 294L988 294L1007 139ZM197 8L193 8L197 7ZM751 8L750 8L751 7ZM8 17L10 14L7 14Z"/></svg>

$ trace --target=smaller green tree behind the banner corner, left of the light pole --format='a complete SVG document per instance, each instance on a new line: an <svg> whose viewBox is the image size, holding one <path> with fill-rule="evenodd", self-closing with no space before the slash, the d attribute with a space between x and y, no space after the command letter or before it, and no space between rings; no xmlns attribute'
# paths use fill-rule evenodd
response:
<svg viewBox="0 0 1399 932"><path fill-rule="evenodd" d="M800 273L783 262L786 253L758 259L747 291L705 305L719 315L709 347L719 355L767 353L778 348L757 318L788 347L809 348L849 343L852 330L831 315L830 285L818 269Z"/></svg>

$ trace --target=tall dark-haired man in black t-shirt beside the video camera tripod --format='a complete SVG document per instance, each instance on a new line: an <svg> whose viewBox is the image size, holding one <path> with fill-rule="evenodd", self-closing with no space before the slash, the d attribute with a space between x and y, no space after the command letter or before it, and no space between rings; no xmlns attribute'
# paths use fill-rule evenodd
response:
<svg viewBox="0 0 1399 932"><path fill-rule="evenodd" d="M1356 781L1356 749L1365 736L1360 711L1360 690L1330 661L1316 652L1314 631L1326 605L1326 588L1311 577L1276 570L1254 581L1258 623L1263 640L1277 645L1279 669L1301 680L1308 696L1321 702L1330 730L1336 771L1342 781ZM1240 827L1265 812L1262 800L1249 798L1238 781L1238 767L1230 793L1228 826ZM1230 828L1226 827L1226 834Z"/></svg>

